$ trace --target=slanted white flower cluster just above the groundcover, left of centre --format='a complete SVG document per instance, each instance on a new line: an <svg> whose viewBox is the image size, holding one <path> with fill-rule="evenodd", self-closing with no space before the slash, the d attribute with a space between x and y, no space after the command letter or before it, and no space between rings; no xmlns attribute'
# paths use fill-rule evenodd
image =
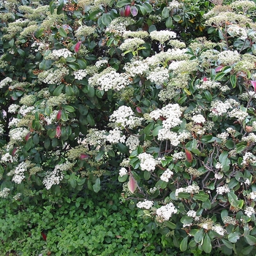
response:
<svg viewBox="0 0 256 256"><path fill-rule="evenodd" d="M56 165L54 170L48 170L46 176L43 179L42 183L45 185L46 189L50 189L53 185L58 185L64 178L64 171L72 168L74 164L71 162L65 162L60 165Z"/></svg>

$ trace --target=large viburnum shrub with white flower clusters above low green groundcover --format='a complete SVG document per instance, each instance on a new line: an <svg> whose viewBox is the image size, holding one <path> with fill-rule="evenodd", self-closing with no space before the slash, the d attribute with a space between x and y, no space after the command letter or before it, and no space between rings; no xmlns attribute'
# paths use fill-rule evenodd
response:
<svg viewBox="0 0 256 256"><path fill-rule="evenodd" d="M181 251L255 255L255 10L2 1L1 197L118 178Z"/></svg>

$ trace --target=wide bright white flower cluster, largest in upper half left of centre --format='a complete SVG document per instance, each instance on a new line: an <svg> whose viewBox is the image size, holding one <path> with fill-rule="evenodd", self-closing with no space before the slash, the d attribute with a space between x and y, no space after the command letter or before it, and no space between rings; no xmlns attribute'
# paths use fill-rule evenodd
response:
<svg viewBox="0 0 256 256"><path fill-rule="evenodd" d="M121 89L124 89L125 86L128 86L129 83L129 79L126 74L120 74L114 70L102 75L97 80L97 84L100 86L100 89L104 91L109 91L110 89L120 91Z"/></svg>

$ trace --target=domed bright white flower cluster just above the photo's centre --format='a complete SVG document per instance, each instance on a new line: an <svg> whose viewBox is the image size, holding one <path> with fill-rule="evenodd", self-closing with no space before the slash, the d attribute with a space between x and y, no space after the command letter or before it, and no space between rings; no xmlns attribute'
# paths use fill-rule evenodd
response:
<svg viewBox="0 0 256 256"><path fill-rule="evenodd" d="M117 127L128 127L129 129L139 126L142 120L143 118L134 116L132 108L127 106L120 106L110 116L110 122L115 123Z"/></svg>

